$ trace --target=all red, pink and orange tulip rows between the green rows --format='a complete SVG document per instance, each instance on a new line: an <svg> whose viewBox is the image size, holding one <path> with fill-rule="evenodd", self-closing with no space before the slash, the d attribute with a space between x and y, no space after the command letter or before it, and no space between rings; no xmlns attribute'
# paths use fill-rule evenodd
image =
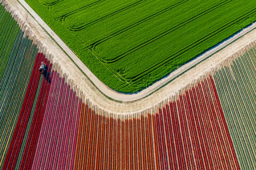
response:
<svg viewBox="0 0 256 170"><path fill-rule="evenodd" d="M38 54L36 63L42 57ZM36 68L3 168L239 169L211 77L150 112L117 116L91 105L57 71L50 83L43 77L38 89Z"/></svg>

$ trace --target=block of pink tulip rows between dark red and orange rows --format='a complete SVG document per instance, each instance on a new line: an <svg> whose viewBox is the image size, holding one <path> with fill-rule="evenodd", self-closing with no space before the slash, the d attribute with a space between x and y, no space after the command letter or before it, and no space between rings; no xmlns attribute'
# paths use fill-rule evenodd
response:
<svg viewBox="0 0 256 170"><path fill-rule="evenodd" d="M81 99L56 71L52 72L32 169L72 169ZM25 164L26 165L26 164Z"/></svg>

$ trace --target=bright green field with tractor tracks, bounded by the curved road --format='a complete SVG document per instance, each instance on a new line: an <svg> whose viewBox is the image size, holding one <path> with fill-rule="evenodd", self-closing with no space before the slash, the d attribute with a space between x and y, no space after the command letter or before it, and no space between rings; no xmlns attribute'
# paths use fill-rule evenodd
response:
<svg viewBox="0 0 256 170"><path fill-rule="evenodd" d="M107 86L136 92L256 21L255 0L26 0Z"/></svg>

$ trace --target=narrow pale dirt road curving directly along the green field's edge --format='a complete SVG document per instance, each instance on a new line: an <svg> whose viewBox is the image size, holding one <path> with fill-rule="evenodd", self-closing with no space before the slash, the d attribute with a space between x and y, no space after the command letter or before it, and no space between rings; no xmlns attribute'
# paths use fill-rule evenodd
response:
<svg viewBox="0 0 256 170"><path fill-rule="evenodd" d="M200 61L204 60L205 58L211 56L212 54L216 53L220 49L223 49L223 47L227 46L228 44L234 42L237 40L239 37L245 35L249 31L253 30L256 28L256 23L252 24L251 26L241 30L239 33L236 35L228 38L228 40L225 40L221 44L218 44L218 46L214 47L213 49L206 51L206 53L202 54L201 56L197 57L193 61L183 65L182 67L178 68L174 72L172 72L170 75L167 77L164 77L163 79L159 80L158 82L154 83L153 85L149 86L143 91L140 91L138 93L132 93L132 94L123 94L119 93L117 91L114 91L113 89L109 88L106 86L104 83L102 83L76 56L76 54L73 53L69 47L66 46L66 44L58 37L57 34L53 32L53 30L47 26L47 24L43 21L43 19L36 14L36 12L24 1L24 0L19 0L19 2L26 8L26 10L38 21L38 23L47 31L47 33L50 34L50 36L59 44L59 46L72 58L72 60L78 65L79 68L89 77L89 79L97 86L97 88L107 95L108 97L114 99L114 100L119 100L123 102L127 101L133 101L133 100L138 100L141 98L144 98L145 96L149 95L150 93L156 91L157 89L161 88L164 84L169 82L171 79L174 79L178 75L182 74L185 72L187 69L193 67Z"/></svg>

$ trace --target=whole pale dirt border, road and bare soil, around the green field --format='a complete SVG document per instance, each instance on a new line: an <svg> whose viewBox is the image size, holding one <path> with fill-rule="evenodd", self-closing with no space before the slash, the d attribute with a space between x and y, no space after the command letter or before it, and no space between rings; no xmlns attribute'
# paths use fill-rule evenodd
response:
<svg viewBox="0 0 256 170"><path fill-rule="evenodd" d="M22 4L25 3L24 0L19 0L19 1ZM70 58L47 34L45 29L48 29L49 27L45 23L41 23L40 17L36 16L37 14L33 14L33 10L29 9L29 6L28 6L28 10L29 11L32 10L30 12L41 23L41 25L43 25L45 29L43 29L39 25L38 21L36 21L31 16L31 14L28 14L28 12L24 9L24 7L21 6L21 4L17 0L7 0L7 2L9 2L9 4L14 9L14 11L20 16L22 20L24 20L28 24L28 27L32 30L32 32L35 33L38 39L43 43L43 45L48 49L48 51L54 56L53 62L59 63L59 65L61 66L61 69L64 70L66 75L69 75L69 78L78 85L78 88L80 88L83 91L83 93L86 94L87 98L90 99L92 104L97 105L98 107L106 110L107 112L116 113L116 114L129 114L129 113L140 112L154 105L157 105L162 100L168 98L171 95L174 95L176 92L178 92L181 88L183 88L184 86L192 82L194 79L197 79L198 77L203 75L205 72L211 70L211 68L215 67L215 65L217 65L221 61L228 58L228 56L239 51L239 49L242 49L242 47L246 46L250 42L256 41L256 30L254 29L256 27L256 23L254 23L254 25L248 28L248 30L242 30L239 34L228 39L223 44L218 45L218 47L212 49L211 51L208 51L206 54L200 56L193 62L190 62L184 65L183 67L176 70L168 77L153 84L152 86L145 89L144 91L141 91L140 93L133 94L133 95L124 95L111 90L105 84L103 84L99 79L97 79L97 77L95 77L95 75L93 75L92 72L90 72L90 70L88 70L88 68L76 56L73 56L75 54L73 54L73 52L59 39L59 37L55 35L55 33L53 33L52 30L49 30L48 33L54 39L56 40L59 39L61 41L61 42L58 42L58 41L57 42L60 44L60 46L62 46L63 49L65 49L67 54L71 56L73 61L77 63L77 65L83 70L83 72L86 73L86 75L97 86L97 88L99 88L104 94L110 96L111 98L122 101L122 102L116 102L116 101L110 100L105 95L103 95L90 82L90 80L83 75L83 73L76 67L76 65L70 60ZM26 7L26 4L24 4L24 6ZM252 31L244 35L249 30L252 30ZM239 36L242 36L242 37L236 40L235 42L233 42ZM233 43L230 44L231 42ZM230 44L230 45L222 49L226 44ZM181 72L184 72L188 68L192 67L195 63L198 63L199 61L215 53L219 49L222 49L222 50L214 54L210 58L206 59L205 61L199 63L197 66L195 66L191 70L185 72L183 75L173 80L168 85L152 93L152 91L155 91L162 85L166 84L166 82L168 82L170 79L172 79L176 75L179 75ZM66 68L69 68L69 69L66 70ZM152 94L146 98L143 98L149 93L152 93ZM140 100L137 100L137 99L140 99ZM136 101L132 101L132 100L136 100Z"/></svg>

